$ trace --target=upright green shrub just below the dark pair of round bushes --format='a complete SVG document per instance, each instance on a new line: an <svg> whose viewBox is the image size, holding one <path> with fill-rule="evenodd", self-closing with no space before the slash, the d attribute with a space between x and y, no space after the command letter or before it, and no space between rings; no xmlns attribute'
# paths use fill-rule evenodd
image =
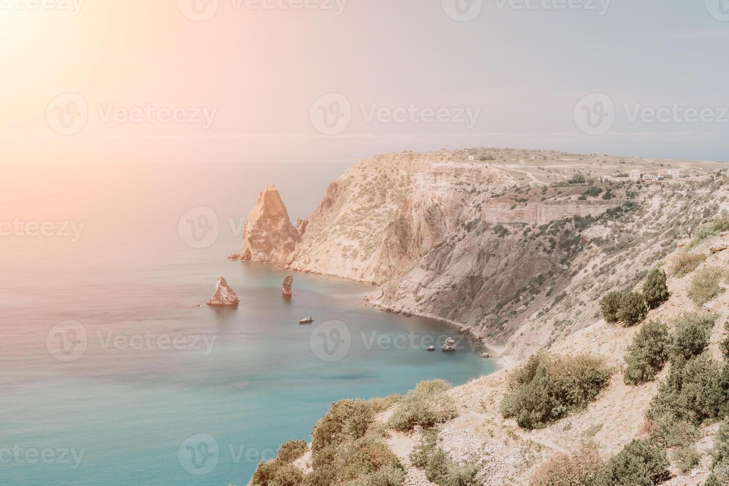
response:
<svg viewBox="0 0 729 486"><path fill-rule="evenodd" d="M666 324L650 321L636 334L625 355L625 384L651 381L663 369L671 342Z"/></svg>

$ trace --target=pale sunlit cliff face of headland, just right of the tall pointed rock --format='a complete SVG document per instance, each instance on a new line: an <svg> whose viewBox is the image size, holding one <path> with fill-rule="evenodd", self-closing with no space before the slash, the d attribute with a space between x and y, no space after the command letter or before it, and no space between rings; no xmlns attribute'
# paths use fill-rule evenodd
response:
<svg viewBox="0 0 729 486"><path fill-rule="evenodd" d="M385 283L455 229L476 192L512 185L496 169L449 155L380 155L346 171L302 223L292 269Z"/></svg>

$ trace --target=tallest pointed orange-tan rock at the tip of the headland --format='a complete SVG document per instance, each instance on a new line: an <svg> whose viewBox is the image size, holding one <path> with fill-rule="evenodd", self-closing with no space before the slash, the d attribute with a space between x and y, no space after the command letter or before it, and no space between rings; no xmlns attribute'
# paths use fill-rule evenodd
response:
<svg viewBox="0 0 729 486"><path fill-rule="evenodd" d="M290 262L301 237L291 221L276 186L258 194L243 232L244 262Z"/></svg>

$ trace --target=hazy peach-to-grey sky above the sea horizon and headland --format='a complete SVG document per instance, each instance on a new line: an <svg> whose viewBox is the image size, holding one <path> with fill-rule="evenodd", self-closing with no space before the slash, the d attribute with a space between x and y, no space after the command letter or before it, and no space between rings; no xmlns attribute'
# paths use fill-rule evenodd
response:
<svg viewBox="0 0 729 486"><path fill-rule="evenodd" d="M0 160L729 160L727 45L727 0L0 0Z"/></svg>

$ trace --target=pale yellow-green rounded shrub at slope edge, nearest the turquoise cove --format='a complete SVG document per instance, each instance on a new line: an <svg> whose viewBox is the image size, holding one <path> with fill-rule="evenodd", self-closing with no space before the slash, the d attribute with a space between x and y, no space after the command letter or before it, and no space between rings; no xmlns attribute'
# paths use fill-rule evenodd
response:
<svg viewBox="0 0 729 486"><path fill-rule="evenodd" d="M415 426L432 427L456 418L456 404L445 394L450 388L451 383L445 380L418 383L395 406L388 426L397 431L410 431Z"/></svg>

